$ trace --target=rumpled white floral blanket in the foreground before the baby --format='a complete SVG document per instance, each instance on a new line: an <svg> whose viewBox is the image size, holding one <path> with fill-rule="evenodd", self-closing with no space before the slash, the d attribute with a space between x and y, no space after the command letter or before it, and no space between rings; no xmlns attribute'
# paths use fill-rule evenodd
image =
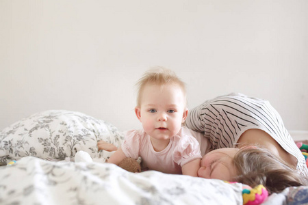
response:
<svg viewBox="0 0 308 205"><path fill-rule="evenodd" d="M242 184L27 156L0 167L0 204L242 204Z"/></svg>

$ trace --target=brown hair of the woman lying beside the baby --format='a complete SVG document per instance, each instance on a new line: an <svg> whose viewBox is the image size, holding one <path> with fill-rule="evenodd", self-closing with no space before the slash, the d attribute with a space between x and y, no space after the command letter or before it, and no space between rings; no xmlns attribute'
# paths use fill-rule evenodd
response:
<svg viewBox="0 0 308 205"><path fill-rule="evenodd" d="M298 174L265 148L242 148L233 158L238 175L235 181L255 187L264 185L269 193L279 193L287 187L308 185L308 179Z"/></svg>

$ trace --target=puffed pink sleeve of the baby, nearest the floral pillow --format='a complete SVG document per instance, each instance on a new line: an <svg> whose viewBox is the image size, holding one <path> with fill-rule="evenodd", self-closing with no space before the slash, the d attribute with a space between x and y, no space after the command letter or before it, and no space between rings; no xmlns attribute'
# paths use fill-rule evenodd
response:
<svg viewBox="0 0 308 205"><path fill-rule="evenodd" d="M138 159L140 151L140 131L127 131L121 148L125 156Z"/></svg>

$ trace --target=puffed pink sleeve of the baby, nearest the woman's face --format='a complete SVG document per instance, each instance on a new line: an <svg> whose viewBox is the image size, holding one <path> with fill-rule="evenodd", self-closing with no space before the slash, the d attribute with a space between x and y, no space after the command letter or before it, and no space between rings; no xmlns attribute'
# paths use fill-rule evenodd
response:
<svg viewBox="0 0 308 205"><path fill-rule="evenodd" d="M175 163L181 167L195 159L201 159L201 151L198 141L190 135L183 135L174 152Z"/></svg>

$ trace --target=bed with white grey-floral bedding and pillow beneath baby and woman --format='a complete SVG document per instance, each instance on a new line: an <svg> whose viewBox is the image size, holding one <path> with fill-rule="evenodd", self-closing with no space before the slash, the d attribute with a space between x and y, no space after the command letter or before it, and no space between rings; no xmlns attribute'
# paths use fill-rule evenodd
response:
<svg viewBox="0 0 308 205"><path fill-rule="evenodd" d="M103 160L107 155L98 151L98 140L120 146L123 132L84 113L63 110L36 113L4 128L0 204L308 204L308 187L289 187L270 196L260 189L263 193L253 195L255 187L238 182L131 173L99 160L73 162L79 150Z"/></svg>

